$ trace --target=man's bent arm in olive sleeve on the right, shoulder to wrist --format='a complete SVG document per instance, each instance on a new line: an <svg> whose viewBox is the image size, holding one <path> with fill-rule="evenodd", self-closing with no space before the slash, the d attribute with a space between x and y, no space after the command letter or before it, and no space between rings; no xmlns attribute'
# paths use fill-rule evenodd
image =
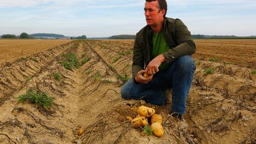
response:
<svg viewBox="0 0 256 144"><path fill-rule="evenodd" d="M184 55L192 55L196 52L196 44L186 25L179 19L175 21L175 41L178 46L163 53L165 61L171 63Z"/></svg>

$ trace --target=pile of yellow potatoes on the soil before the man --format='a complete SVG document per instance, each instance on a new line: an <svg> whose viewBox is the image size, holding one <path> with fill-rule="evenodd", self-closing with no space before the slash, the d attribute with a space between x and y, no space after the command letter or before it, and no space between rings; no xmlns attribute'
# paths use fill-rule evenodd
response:
<svg viewBox="0 0 256 144"><path fill-rule="evenodd" d="M132 117L127 117L132 123L132 127L144 127L149 125L148 119L151 119L151 128L155 136L164 136L164 128L162 127L162 117L159 114L155 114L155 109L145 106L140 106L137 108L137 117L132 119Z"/></svg>

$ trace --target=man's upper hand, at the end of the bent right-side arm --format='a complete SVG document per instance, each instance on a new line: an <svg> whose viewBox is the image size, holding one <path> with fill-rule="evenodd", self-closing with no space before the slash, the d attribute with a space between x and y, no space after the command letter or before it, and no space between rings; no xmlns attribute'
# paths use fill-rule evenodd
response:
<svg viewBox="0 0 256 144"><path fill-rule="evenodd" d="M162 62L165 62L164 55L156 56L151 62L149 62L148 66L145 69L145 72L148 72L149 75L153 75L159 71L158 67Z"/></svg>

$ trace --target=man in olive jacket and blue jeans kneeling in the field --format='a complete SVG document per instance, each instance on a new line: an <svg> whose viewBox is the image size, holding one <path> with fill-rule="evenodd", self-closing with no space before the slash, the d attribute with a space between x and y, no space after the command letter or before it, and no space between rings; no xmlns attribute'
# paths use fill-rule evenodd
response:
<svg viewBox="0 0 256 144"><path fill-rule="evenodd" d="M195 69L190 55L196 44L181 20L165 17L165 0L146 0L144 10L147 25L136 34L133 78L121 88L121 97L164 105L166 91L172 89L171 113L182 119Z"/></svg>

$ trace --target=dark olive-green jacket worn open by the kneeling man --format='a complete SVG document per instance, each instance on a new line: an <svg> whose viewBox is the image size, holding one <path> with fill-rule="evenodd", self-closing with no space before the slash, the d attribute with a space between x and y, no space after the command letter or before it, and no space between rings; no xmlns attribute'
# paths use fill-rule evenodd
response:
<svg viewBox="0 0 256 144"><path fill-rule="evenodd" d="M167 64L172 63L184 55L192 55L196 52L196 44L194 43L190 31L185 24L179 19L165 18L163 33L165 41L169 46L168 52L162 53ZM143 27L135 37L133 46L133 65L132 74L137 75L137 72L146 68L151 62L151 49L153 31L149 25Z"/></svg>

